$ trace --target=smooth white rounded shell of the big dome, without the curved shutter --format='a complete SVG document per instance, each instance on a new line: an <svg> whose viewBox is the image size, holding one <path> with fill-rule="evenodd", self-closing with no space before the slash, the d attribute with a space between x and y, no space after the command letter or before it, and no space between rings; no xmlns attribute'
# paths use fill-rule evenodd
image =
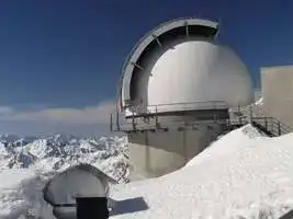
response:
<svg viewBox="0 0 293 219"><path fill-rule="evenodd" d="M237 106L252 100L248 70L229 48L188 41L168 49L155 65L149 61L148 105L219 101Z"/></svg>

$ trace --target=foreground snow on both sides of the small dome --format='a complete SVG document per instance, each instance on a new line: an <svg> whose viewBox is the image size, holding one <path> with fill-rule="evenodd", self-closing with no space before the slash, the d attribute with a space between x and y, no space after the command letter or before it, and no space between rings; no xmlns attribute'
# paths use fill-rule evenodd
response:
<svg viewBox="0 0 293 219"><path fill-rule="evenodd" d="M177 172L112 187L116 204L111 218L280 218L293 209L292 160L293 134L268 138L247 125L214 141ZM31 169L2 171L0 218L54 218L41 193L48 177ZM2 184L11 178L13 183Z"/></svg>

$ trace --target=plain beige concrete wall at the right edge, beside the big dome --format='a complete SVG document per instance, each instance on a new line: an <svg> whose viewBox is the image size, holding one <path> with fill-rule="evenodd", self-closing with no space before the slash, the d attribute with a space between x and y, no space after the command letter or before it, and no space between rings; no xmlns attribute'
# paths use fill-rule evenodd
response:
<svg viewBox="0 0 293 219"><path fill-rule="evenodd" d="M263 110L293 128L293 66L261 68Z"/></svg>

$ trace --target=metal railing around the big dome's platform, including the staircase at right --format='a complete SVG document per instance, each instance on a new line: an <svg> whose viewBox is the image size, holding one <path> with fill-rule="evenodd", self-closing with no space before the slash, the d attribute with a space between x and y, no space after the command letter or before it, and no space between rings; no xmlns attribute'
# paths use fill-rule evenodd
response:
<svg viewBox="0 0 293 219"><path fill-rule="evenodd" d="M174 115L185 115L187 112L191 112L191 115L196 115L196 112L203 110L211 110L207 117L200 118L194 117L188 120L182 120L182 117L173 117ZM219 117L218 111L213 110L228 110L225 102L211 101L211 102L191 102L191 103L171 103L171 104L158 104L158 105L140 105L129 108L128 115L121 115L116 112L116 115L110 117L111 131L135 131L135 130L156 130L177 127L191 127L201 124L201 119L205 120L205 124L217 123L226 124L227 126L240 126L245 124L252 124L269 136L281 136L291 132L292 129L281 123L279 119L270 116L261 107L251 104L248 106L237 106L229 108L228 118ZM162 115L166 116L161 119Z"/></svg>

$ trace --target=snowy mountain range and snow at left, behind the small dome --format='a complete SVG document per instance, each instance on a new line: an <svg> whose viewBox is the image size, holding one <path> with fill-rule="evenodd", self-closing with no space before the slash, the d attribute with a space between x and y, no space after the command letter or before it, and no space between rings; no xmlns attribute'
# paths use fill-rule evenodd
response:
<svg viewBox="0 0 293 219"><path fill-rule="evenodd" d="M43 200L48 178L77 163L90 163L119 182L127 182L127 140L119 138L19 139L0 136L0 219L53 219Z"/></svg>

